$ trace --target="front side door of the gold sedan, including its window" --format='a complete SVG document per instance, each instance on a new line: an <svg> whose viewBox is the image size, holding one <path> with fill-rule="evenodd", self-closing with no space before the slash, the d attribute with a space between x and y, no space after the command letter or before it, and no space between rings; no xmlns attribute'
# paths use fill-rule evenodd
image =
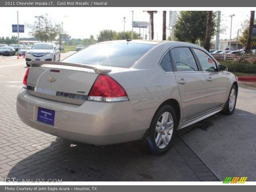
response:
<svg viewBox="0 0 256 192"><path fill-rule="evenodd" d="M227 77L225 72L218 71L216 62L203 50L192 49L202 67L203 74L207 80L207 95L205 106L208 110L220 107L226 102Z"/></svg>

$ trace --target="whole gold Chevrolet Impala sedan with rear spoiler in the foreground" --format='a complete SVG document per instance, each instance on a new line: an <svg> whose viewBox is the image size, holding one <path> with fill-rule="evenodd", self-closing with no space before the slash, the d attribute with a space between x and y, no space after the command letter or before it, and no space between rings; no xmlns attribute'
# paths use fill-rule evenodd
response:
<svg viewBox="0 0 256 192"><path fill-rule="evenodd" d="M163 154L176 130L236 107L236 76L195 44L103 42L30 66L17 98L20 119L93 145L142 139Z"/></svg>

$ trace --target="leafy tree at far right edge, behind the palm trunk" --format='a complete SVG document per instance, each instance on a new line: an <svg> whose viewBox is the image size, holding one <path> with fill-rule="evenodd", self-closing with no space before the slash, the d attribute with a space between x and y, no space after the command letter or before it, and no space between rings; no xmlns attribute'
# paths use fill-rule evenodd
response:
<svg viewBox="0 0 256 192"><path fill-rule="evenodd" d="M254 20L254 23L256 23L256 19ZM239 37L238 41L241 45L243 45L243 47L245 47L247 44L249 24L249 19L244 20L244 22L241 24L240 32L242 32L242 36ZM256 37L252 37L251 45L256 46Z"/></svg>

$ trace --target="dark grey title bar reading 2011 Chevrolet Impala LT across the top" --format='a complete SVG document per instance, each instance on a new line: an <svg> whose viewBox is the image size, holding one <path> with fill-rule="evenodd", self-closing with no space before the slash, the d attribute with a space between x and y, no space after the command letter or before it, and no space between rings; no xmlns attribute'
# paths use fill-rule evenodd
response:
<svg viewBox="0 0 256 192"><path fill-rule="evenodd" d="M0 7L254 7L256 1L205 0L1 0Z"/></svg>

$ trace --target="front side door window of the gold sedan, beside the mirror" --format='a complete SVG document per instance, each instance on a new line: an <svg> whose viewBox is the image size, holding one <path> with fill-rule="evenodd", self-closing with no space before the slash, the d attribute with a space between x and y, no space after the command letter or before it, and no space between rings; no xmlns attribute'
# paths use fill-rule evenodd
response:
<svg viewBox="0 0 256 192"><path fill-rule="evenodd" d="M203 71L217 71L214 60L208 54L199 49L193 48L193 50L196 53L196 56L203 68Z"/></svg>

